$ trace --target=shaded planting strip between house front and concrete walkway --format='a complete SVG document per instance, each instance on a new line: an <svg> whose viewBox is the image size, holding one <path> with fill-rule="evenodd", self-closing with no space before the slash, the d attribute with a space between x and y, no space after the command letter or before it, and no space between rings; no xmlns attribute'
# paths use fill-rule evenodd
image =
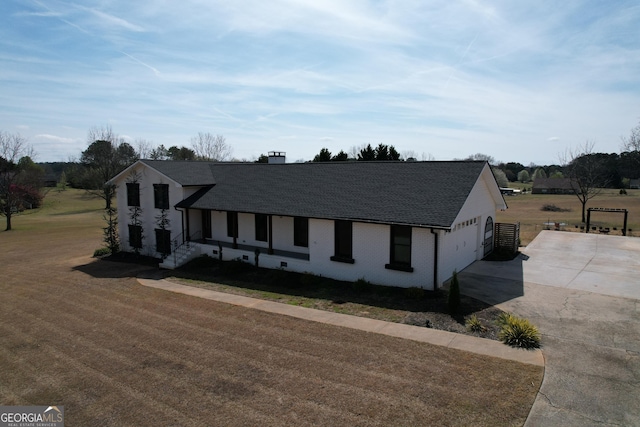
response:
<svg viewBox="0 0 640 427"><path fill-rule="evenodd" d="M336 311L497 340L496 320L502 311L462 295L454 316L448 310L446 290L378 286L363 281L342 282L311 274L256 268L239 261L199 258L172 272L170 280L191 286ZM471 332L465 321L475 315L484 330Z"/></svg>

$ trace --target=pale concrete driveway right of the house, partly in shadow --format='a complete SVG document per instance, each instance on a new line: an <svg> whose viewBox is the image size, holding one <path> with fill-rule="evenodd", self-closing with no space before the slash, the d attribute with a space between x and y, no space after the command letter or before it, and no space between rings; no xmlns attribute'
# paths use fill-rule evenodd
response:
<svg viewBox="0 0 640 427"><path fill-rule="evenodd" d="M640 238L543 231L461 291L531 320L545 377L526 425L640 426Z"/></svg>

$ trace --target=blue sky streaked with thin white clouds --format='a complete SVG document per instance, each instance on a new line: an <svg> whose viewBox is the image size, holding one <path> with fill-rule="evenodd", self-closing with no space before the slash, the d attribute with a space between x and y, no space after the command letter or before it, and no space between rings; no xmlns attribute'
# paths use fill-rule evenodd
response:
<svg viewBox="0 0 640 427"><path fill-rule="evenodd" d="M637 1L3 0L0 130L38 161L93 126L238 159L363 144L528 165L640 121Z"/></svg>

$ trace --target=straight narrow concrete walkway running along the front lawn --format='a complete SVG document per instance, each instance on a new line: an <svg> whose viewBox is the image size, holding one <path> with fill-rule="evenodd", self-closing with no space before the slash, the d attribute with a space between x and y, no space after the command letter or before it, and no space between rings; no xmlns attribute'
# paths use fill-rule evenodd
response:
<svg viewBox="0 0 640 427"><path fill-rule="evenodd" d="M514 360L531 365L544 366L544 359L540 350L516 349L508 347L498 341L485 338L478 338L469 335L456 334L453 332L440 331L437 329L422 328L419 326L385 322L382 320L368 319L365 317L350 316L346 314L333 313L330 311L293 306L273 301L249 298L240 295L226 294L223 292L217 292L208 289L185 286L163 279L154 280L139 278L138 282L141 285L153 287L156 289L164 289L170 292L177 292L198 298L205 298L227 304L267 311L270 313L282 314L298 319L305 319L313 322L322 322L335 326L343 326L346 328L358 329L366 332L373 332L377 334L405 338L448 348L455 348L457 350L469 351L485 356Z"/></svg>

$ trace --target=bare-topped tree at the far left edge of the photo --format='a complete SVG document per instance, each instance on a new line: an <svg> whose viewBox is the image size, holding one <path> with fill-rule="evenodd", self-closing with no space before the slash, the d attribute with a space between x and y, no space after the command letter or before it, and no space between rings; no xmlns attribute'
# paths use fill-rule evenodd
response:
<svg viewBox="0 0 640 427"><path fill-rule="evenodd" d="M0 215L7 219L6 231L11 230L12 215L30 203L41 199L38 187L30 175L33 148L19 133L0 131Z"/></svg>

